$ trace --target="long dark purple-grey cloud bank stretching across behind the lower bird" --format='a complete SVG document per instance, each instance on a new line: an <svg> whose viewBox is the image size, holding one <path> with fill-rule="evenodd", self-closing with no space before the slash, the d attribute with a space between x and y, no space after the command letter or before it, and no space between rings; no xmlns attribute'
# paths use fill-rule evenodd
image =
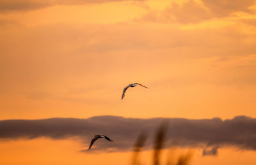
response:
<svg viewBox="0 0 256 165"><path fill-rule="evenodd" d="M0 139L77 137L87 146L95 134L105 134L115 143L99 141L95 148L124 151L131 149L141 131L150 135L149 141L146 143L146 148L149 148L152 136L163 120L168 123L166 144L179 141L180 146L227 145L256 150L256 118L246 116L236 116L232 120L224 121L220 118L189 120L185 118L140 119L118 116L95 116L88 119L2 120L0 121ZM205 150L205 155L217 153L217 149Z"/></svg>

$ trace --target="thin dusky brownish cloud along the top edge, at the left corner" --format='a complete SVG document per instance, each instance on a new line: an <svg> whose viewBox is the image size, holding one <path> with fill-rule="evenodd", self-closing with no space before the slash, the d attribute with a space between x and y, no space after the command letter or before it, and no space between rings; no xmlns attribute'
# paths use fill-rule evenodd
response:
<svg viewBox="0 0 256 165"><path fill-rule="evenodd" d="M82 5L95 3L108 3L115 1L129 1L129 0L0 0L0 12L17 11L17 10L35 10L39 8L46 8L57 4L63 5ZM143 1L143 0L132 0Z"/></svg>

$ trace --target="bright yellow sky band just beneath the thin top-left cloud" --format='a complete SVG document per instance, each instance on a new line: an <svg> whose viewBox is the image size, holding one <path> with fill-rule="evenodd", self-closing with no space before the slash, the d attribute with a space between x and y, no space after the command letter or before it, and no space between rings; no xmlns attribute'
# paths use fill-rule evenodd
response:
<svg viewBox="0 0 256 165"><path fill-rule="evenodd" d="M170 1L121 1L86 5L54 5L26 12L8 12L2 15L0 13L0 18L15 20L28 27L45 24L111 24L142 17L149 8L163 10L171 3Z"/></svg>

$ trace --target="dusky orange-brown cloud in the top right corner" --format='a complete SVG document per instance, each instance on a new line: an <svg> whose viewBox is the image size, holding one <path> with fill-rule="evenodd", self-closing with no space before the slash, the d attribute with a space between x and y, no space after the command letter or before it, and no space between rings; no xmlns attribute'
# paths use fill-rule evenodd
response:
<svg viewBox="0 0 256 165"><path fill-rule="evenodd" d="M172 3L162 11L149 11L141 19L149 22L178 22L180 24L196 24L204 20L228 17L235 12L252 13L250 6L255 4L255 0L241 3L235 1L211 1L202 0L202 3L190 0L182 4Z"/></svg>

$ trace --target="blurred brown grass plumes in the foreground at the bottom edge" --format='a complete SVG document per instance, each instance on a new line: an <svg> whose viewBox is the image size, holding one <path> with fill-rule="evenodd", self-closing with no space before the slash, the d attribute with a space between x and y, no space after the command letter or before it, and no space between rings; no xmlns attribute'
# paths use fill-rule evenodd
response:
<svg viewBox="0 0 256 165"><path fill-rule="evenodd" d="M164 138L167 132L167 123L162 123L157 129L154 138L154 152L153 152L153 165L160 165L160 157L163 154L162 150L164 148ZM138 136L138 139L134 145L133 155L132 155L132 165L140 165L140 152L145 145L147 139L147 134L143 133ZM169 154L167 155L166 165L188 165L192 158L192 153L187 152L179 155L178 157L173 156L175 148L170 148Z"/></svg>

